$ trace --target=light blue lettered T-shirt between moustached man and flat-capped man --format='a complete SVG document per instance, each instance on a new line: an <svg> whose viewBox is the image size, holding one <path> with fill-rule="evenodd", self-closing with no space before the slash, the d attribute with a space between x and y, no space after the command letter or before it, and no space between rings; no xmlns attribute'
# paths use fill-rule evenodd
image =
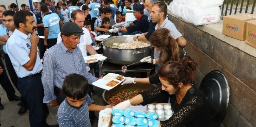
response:
<svg viewBox="0 0 256 127"><path fill-rule="evenodd" d="M60 17L56 13L50 13L43 17L43 26L44 28L49 28L48 39L55 39L58 37L60 30Z"/></svg>

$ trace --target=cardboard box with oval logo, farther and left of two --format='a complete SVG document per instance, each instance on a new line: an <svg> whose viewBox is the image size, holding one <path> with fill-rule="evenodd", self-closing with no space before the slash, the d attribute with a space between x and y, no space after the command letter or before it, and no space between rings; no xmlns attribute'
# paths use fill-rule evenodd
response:
<svg viewBox="0 0 256 127"><path fill-rule="evenodd" d="M223 17L222 34L245 41L246 21L256 19L255 14L238 14Z"/></svg>

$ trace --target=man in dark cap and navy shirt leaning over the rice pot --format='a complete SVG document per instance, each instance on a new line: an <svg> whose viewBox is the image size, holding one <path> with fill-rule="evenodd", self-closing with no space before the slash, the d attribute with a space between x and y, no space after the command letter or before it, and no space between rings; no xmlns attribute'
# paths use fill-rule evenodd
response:
<svg viewBox="0 0 256 127"><path fill-rule="evenodd" d="M115 28L113 32L128 32L128 33L132 33L135 31L138 31L138 33L148 32L148 28L149 28L148 16L144 15L143 10L144 10L143 4L139 4L139 5L134 4L133 15L137 20L130 22L129 24L124 24L124 28Z"/></svg>

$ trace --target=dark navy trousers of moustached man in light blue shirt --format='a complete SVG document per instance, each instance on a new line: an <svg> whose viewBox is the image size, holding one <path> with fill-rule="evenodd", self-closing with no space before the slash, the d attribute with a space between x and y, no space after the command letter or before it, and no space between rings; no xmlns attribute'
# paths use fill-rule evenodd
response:
<svg viewBox="0 0 256 127"><path fill-rule="evenodd" d="M30 127L49 127L46 123L45 112L48 107L46 103L43 103L44 91L41 75L19 78L18 88L28 103Z"/></svg>

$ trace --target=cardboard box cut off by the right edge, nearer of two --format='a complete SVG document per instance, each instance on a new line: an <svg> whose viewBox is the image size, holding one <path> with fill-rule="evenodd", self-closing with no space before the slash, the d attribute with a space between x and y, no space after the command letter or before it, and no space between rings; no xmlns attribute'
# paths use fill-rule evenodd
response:
<svg viewBox="0 0 256 127"><path fill-rule="evenodd" d="M256 48L256 20L246 22L245 43Z"/></svg>

